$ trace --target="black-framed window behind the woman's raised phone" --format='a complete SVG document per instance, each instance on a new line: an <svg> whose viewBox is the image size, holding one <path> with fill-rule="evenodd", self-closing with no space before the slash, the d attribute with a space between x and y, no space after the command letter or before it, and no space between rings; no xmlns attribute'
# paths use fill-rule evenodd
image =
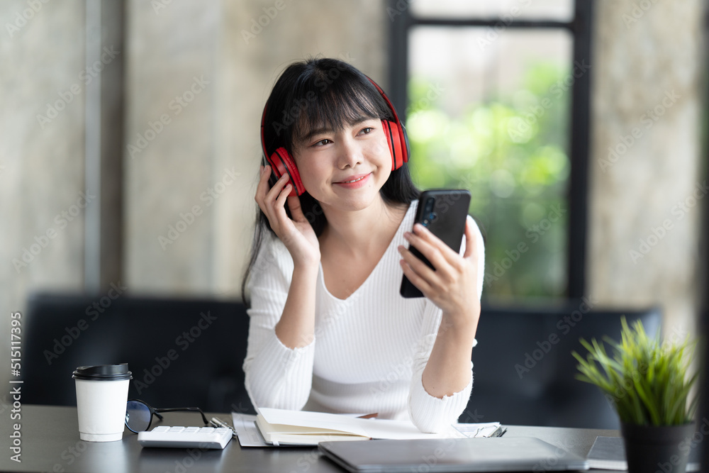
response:
<svg viewBox="0 0 709 473"><path fill-rule="evenodd" d="M489 300L583 295L591 12L580 8L417 0L387 10L413 178L471 191Z"/></svg>

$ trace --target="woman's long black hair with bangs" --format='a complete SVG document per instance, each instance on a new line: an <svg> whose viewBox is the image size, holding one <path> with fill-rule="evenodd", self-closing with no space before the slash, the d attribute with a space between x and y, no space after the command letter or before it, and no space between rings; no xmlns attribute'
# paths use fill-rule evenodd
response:
<svg viewBox="0 0 709 473"><path fill-rule="evenodd" d="M389 106L367 76L337 59L294 62L286 67L266 101L262 130L264 152L272 153L283 147L293 156L294 143L298 143L316 126L325 123L333 130L342 130L345 125L363 118L393 121ZM262 162L267 164L265 156ZM273 186L276 180L276 175L272 173L269 184ZM408 206L418 199L420 191L413 184L408 165L404 163L391 172L379 194L386 204ZM299 199L303 215L308 218L316 235L320 236L327 224L320 203L307 191ZM290 216L287 205L286 213ZM249 265L241 284L245 302L247 279L268 232L274 235L268 218L259 208Z"/></svg>

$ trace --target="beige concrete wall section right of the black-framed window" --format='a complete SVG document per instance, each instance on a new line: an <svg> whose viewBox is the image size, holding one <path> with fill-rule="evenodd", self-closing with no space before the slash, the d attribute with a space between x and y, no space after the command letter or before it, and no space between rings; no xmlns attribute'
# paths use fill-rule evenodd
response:
<svg viewBox="0 0 709 473"><path fill-rule="evenodd" d="M666 336L696 312L703 18L699 0L596 2L588 294L662 306Z"/></svg>

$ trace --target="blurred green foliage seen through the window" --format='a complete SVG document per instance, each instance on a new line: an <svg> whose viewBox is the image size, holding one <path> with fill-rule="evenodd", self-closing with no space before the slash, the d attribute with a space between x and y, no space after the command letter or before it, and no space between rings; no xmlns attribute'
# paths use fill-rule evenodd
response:
<svg viewBox="0 0 709 473"><path fill-rule="evenodd" d="M451 116L413 77L406 128L422 189L463 188L486 235L484 296L563 296L569 207L569 91L558 65L527 68L520 89ZM450 97L447 97L450 98Z"/></svg>

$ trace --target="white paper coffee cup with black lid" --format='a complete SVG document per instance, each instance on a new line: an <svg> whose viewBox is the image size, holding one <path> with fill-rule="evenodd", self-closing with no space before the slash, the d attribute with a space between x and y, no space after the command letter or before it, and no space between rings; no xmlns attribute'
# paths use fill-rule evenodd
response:
<svg viewBox="0 0 709 473"><path fill-rule="evenodd" d="M128 384L133 378L128 365L78 367L79 438L87 442L113 442L123 438Z"/></svg>

